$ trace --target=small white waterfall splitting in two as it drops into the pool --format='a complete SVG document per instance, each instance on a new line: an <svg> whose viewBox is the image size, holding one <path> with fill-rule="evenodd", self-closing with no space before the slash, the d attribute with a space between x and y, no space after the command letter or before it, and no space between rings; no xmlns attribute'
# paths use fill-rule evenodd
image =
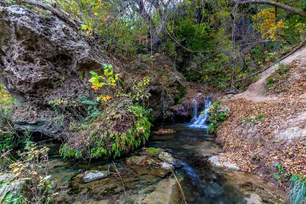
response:
<svg viewBox="0 0 306 204"><path fill-rule="evenodd" d="M191 119L191 125L190 127L194 127L194 128L207 128L207 124L206 124L206 120L208 117L208 110L211 106L211 100L209 97L207 97L205 99L205 106L204 106L204 110L201 111L198 115L198 110L197 110L197 102L196 99L198 98L198 96L196 98L193 98L193 118Z"/></svg>

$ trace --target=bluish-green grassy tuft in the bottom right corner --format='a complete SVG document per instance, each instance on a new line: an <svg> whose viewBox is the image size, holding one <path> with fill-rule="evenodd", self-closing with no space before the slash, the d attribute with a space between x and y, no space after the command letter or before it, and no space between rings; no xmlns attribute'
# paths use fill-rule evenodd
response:
<svg viewBox="0 0 306 204"><path fill-rule="evenodd" d="M292 204L306 203L306 179L300 175L290 178L288 196Z"/></svg>

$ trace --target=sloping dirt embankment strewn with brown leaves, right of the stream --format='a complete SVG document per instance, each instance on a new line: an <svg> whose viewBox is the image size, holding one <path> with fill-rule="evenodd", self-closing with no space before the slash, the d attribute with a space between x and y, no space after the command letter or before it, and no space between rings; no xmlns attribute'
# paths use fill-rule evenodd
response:
<svg viewBox="0 0 306 204"><path fill-rule="evenodd" d="M217 132L226 150L223 161L282 186L292 175L306 176L304 56L306 46L281 61L285 65L263 72L244 93L222 98L230 108Z"/></svg>

